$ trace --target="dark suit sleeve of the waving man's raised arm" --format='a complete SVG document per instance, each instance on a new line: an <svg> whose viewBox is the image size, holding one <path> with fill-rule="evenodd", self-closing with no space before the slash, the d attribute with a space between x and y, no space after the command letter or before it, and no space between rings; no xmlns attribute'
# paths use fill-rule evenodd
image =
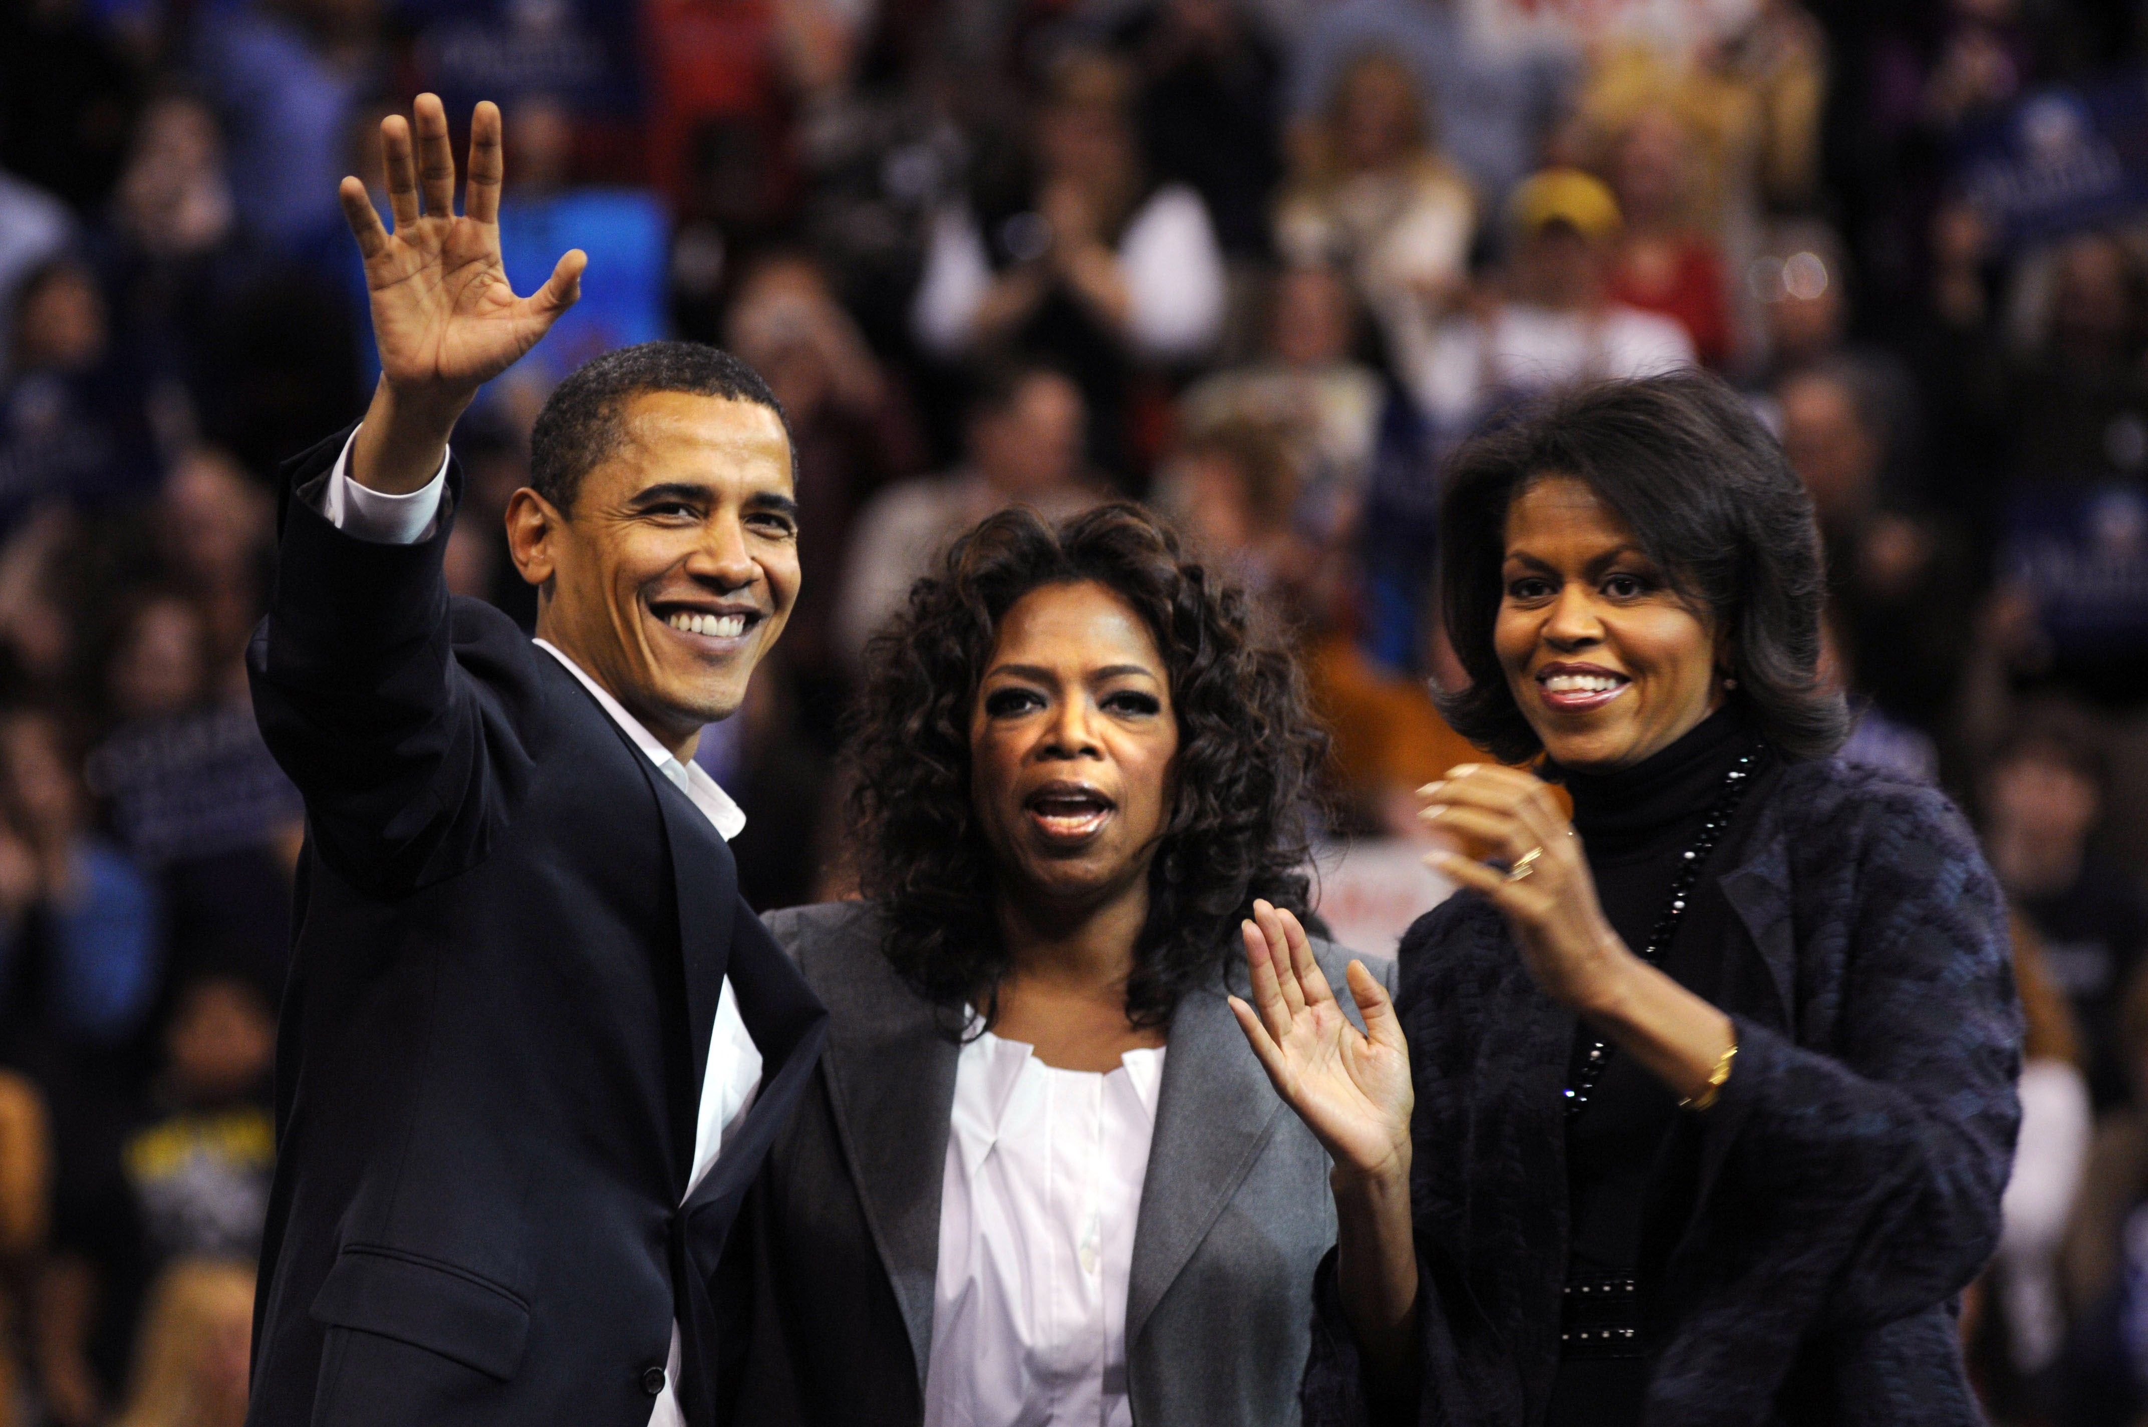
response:
<svg viewBox="0 0 2148 1427"><path fill-rule="evenodd" d="M511 651L494 651L490 683L458 660L442 557L460 466L430 539L359 539L318 509L346 436L284 469L277 578L247 675L262 737L305 795L314 847L357 885L393 896L483 857L526 756ZM468 653L483 668L492 632L473 623Z"/></svg>

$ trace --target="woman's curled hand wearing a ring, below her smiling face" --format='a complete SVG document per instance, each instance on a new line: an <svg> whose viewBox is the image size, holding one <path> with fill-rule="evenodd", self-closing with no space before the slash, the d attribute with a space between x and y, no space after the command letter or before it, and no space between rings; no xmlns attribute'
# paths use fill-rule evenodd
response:
<svg viewBox="0 0 2148 1427"><path fill-rule="evenodd" d="M1544 995L1598 1010L1635 956L1605 920L1581 838L1551 787L1519 767L1463 763L1418 797L1424 825L1454 842L1426 862L1506 913Z"/></svg>

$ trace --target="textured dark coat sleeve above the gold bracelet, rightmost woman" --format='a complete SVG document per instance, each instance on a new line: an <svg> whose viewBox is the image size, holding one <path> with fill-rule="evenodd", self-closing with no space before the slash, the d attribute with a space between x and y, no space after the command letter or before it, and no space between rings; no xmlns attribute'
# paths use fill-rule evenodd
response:
<svg viewBox="0 0 2148 1427"><path fill-rule="evenodd" d="M1798 965L1841 978L1798 989L1796 1042L1736 1017L1738 1062L1703 1115L1710 1221L1798 1246L1785 1270L1839 1330L1929 1309L1976 1277L2019 1126L2021 1012L1991 870L1937 793L1877 787L1858 802L1854 881L1813 879L1847 905L1794 896L1811 935L1839 941Z"/></svg>

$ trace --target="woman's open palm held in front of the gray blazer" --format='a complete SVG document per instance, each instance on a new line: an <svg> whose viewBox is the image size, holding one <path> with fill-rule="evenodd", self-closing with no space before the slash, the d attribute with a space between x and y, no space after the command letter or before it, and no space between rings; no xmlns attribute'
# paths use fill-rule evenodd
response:
<svg viewBox="0 0 2148 1427"><path fill-rule="evenodd" d="M1349 991L1366 1029L1342 1014L1297 918L1267 903L1244 924L1252 1004L1231 997L1252 1053L1321 1141L1338 1171L1407 1182L1409 1042L1388 991L1362 961L1349 963Z"/></svg>

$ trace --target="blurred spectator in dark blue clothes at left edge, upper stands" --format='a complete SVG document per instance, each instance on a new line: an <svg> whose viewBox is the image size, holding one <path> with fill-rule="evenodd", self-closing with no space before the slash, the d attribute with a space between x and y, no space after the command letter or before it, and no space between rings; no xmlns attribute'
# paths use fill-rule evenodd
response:
<svg viewBox="0 0 2148 1427"><path fill-rule="evenodd" d="M43 499L112 501L157 479L150 380L112 344L97 277L54 258L15 292L0 387L0 529Z"/></svg>

